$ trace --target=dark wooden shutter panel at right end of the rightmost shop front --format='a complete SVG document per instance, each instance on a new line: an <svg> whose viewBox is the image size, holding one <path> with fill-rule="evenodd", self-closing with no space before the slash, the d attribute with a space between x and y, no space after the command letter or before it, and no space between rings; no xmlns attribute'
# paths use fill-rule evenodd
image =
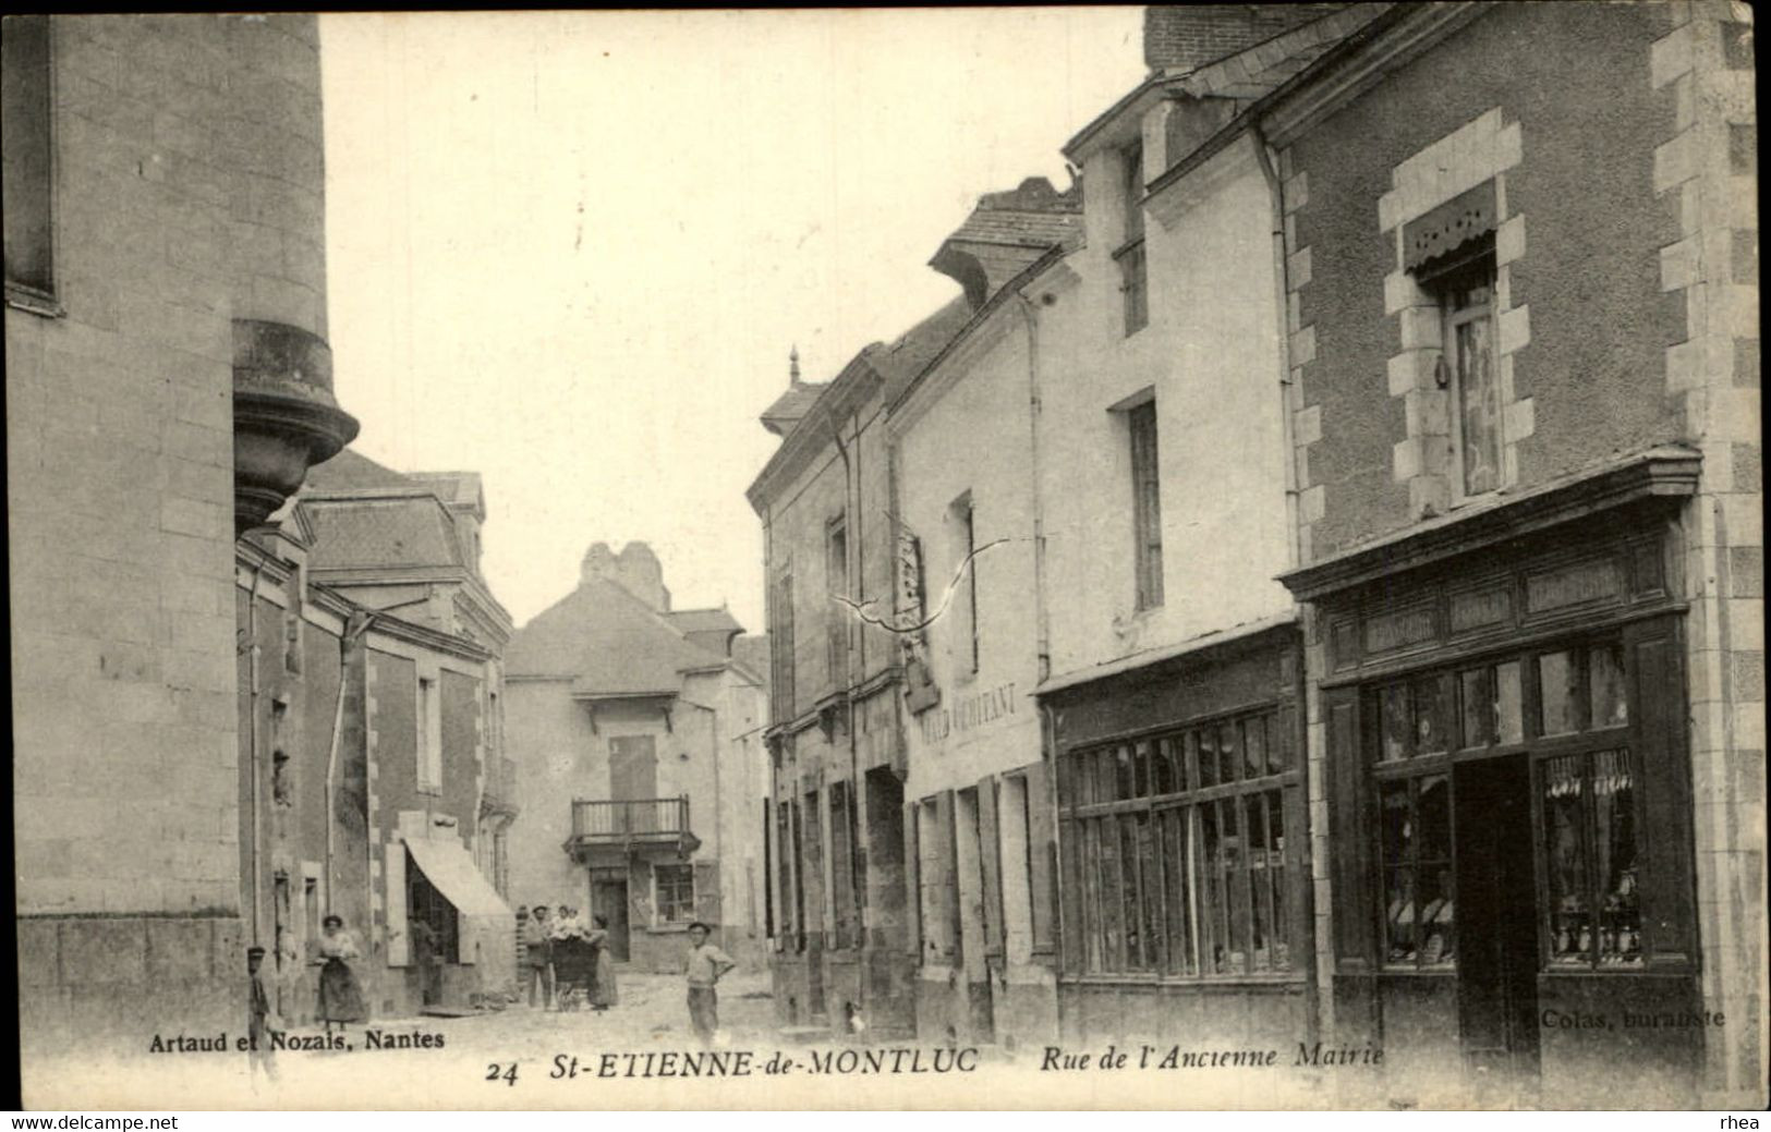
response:
<svg viewBox="0 0 1771 1132"><path fill-rule="evenodd" d="M1642 776L1636 852L1642 861L1642 928L1651 967L1686 969L1697 958L1691 852L1691 765L1677 618L1624 629L1629 719Z"/></svg>

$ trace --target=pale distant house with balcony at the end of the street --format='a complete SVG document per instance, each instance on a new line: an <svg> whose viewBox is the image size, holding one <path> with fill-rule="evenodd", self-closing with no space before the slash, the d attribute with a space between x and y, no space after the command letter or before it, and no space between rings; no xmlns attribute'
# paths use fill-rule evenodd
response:
<svg viewBox="0 0 1771 1132"><path fill-rule="evenodd" d="M728 611L671 608L645 542L592 546L507 654L512 900L604 916L611 955L645 971L680 971L696 919L762 962L765 671Z"/></svg>

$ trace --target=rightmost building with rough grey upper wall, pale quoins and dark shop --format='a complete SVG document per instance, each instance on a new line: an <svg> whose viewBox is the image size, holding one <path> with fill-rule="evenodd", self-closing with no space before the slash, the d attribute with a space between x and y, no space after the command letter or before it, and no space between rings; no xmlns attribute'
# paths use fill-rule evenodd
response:
<svg viewBox="0 0 1771 1132"><path fill-rule="evenodd" d="M1764 1102L1752 89L1727 5L1410 5L1257 112L1321 1015L1390 1098Z"/></svg>

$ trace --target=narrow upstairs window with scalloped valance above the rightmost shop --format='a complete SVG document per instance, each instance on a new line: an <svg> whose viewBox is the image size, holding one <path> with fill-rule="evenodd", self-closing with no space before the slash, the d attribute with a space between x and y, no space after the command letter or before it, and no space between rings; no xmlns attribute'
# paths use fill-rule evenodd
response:
<svg viewBox="0 0 1771 1132"><path fill-rule="evenodd" d="M1495 367L1495 241L1466 252L1422 278L1440 299L1443 360L1440 386L1450 395L1458 489L1479 496L1500 487L1500 376Z"/></svg>

